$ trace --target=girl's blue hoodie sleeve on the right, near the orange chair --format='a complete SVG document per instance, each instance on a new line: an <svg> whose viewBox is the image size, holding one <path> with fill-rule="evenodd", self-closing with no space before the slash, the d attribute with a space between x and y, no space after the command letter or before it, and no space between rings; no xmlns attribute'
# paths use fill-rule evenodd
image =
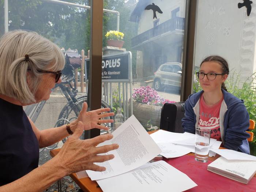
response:
<svg viewBox="0 0 256 192"><path fill-rule="evenodd" d="M230 111L227 121L224 147L237 151L243 140L250 137L249 133L245 132L249 128L249 114L245 106L240 105Z"/></svg>

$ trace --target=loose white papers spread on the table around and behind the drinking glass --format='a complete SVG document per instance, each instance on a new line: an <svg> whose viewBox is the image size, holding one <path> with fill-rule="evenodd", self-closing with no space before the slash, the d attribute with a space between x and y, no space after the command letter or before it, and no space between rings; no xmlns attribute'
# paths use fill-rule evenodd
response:
<svg viewBox="0 0 256 192"><path fill-rule="evenodd" d="M150 136L161 148L161 155L165 158L175 158L191 152L195 153L195 134L187 132L173 133L160 129ZM210 139L210 150L218 149L220 146L220 141ZM209 156L215 156L215 153L210 151Z"/></svg>

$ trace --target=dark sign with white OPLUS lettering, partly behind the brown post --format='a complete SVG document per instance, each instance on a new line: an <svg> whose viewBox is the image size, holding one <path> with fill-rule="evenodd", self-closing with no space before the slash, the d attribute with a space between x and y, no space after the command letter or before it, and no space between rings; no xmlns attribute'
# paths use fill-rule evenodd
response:
<svg viewBox="0 0 256 192"><path fill-rule="evenodd" d="M102 81L118 80L118 82L128 82L130 72L130 52L111 54L102 57L101 78ZM89 59L86 59L86 79L89 74Z"/></svg>

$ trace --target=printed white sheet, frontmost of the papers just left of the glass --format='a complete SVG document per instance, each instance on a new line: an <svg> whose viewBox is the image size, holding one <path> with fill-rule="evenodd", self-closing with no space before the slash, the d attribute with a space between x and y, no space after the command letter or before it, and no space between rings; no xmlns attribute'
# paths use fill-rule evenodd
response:
<svg viewBox="0 0 256 192"><path fill-rule="evenodd" d="M193 150L192 148L194 148L195 150L194 146L181 146L172 143L158 143L157 145L162 150L162 153L160 153L160 155L165 158L181 157L190 153Z"/></svg>

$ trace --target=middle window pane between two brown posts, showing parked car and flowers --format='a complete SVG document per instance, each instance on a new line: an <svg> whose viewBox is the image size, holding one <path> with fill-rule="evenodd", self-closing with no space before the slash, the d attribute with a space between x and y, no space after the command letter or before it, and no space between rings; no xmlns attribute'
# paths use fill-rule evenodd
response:
<svg viewBox="0 0 256 192"><path fill-rule="evenodd" d="M159 127L163 103L180 101L181 74L177 71L181 71L182 66L185 22L185 0L152 3L144 0L104 0L106 10L120 13L119 31L124 37L118 38L117 32L114 35L107 33L118 30L115 13L104 13L102 34L102 66L105 66L102 99L115 113L117 107L121 107L124 120L133 113L147 130ZM152 6L158 11L154 12ZM117 48L112 39L124 41L123 47ZM127 52L131 53L130 61L114 56ZM120 67L113 68L111 65L110 69L109 63L116 59L121 59ZM121 68L122 65L126 68ZM109 71L120 74L108 75ZM124 77L126 72L131 72L131 78L118 78Z"/></svg>

